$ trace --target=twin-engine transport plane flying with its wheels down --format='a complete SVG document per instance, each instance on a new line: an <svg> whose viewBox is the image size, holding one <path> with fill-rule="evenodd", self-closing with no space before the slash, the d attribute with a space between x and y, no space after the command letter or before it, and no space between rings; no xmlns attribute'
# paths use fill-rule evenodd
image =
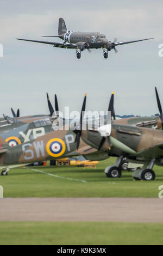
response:
<svg viewBox="0 0 163 256"><path fill-rule="evenodd" d="M53 45L54 47L59 48L74 48L76 49L76 56L78 59L81 57L81 52L87 49L91 52L90 49L92 48L102 48L103 49L103 56L104 58L108 58L108 51L114 49L115 53L117 53L116 46L118 45L125 45L130 44L131 42L139 42L144 40L149 40L153 38L141 39L141 40L134 40L134 41L126 41L126 42L117 42L117 38L114 41L108 41L104 34L99 32L92 33L92 32L73 32L68 31L65 25L64 19L59 19L58 25L58 35L49 35L46 37L54 37L60 38L64 40L64 42L48 42L48 41L37 41L37 40L27 40L27 39L18 39L30 42L41 42L42 44L49 44Z"/></svg>

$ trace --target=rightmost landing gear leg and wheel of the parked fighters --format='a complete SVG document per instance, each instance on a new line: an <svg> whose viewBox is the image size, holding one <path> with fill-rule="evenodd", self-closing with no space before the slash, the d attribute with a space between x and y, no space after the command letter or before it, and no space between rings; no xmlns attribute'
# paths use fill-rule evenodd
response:
<svg viewBox="0 0 163 256"><path fill-rule="evenodd" d="M155 173L152 170L154 161L155 159L152 159L151 162L145 162L142 169L135 170L132 174L134 180L154 180Z"/></svg>

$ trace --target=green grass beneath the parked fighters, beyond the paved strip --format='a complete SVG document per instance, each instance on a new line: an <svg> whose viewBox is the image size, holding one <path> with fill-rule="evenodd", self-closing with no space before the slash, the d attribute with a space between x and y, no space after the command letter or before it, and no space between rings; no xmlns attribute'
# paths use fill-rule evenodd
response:
<svg viewBox="0 0 163 256"><path fill-rule="evenodd" d="M106 178L104 169L115 158L99 162L96 169L73 166L29 167L64 178L85 180L86 183L55 178L31 169L11 169L8 176L0 176L4 197L158 197L163 185L162 167L155 166L155 181L133 181L131 172L122 172L117 179Z"/></svg>

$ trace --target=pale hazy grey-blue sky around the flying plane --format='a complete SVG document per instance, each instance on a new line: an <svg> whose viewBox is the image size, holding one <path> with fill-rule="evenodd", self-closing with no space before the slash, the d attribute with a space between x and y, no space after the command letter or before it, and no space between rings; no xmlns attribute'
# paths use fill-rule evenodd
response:
<svg viewBox="0 0 163 256"><path fill-rule="evenodd" d="M48 113L46 92L52 102L58 95L60 110L80 110L87 93L87 110L103 111L114 91L116 114L151 115L158 113L154 86L163 106L162 1L0 0L0 7L1 114L10 107L21 115ZM102 32L109 40L155 39L118 46L108 59L102 50L84 51L80 60L72 49L15 40L61 41L41 38L57 35L59 17L72 31Z"/></svg>

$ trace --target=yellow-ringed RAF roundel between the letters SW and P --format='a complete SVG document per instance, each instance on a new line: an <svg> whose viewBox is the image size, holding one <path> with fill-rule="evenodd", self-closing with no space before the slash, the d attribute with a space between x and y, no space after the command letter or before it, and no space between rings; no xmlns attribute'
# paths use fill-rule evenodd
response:
<svg viewBox="0 0 163 256"><path fill-rule="evenodd" d="M50 156L58 157L65 153L66 146L64 141L58 138L54 138L48 141L46 150Z"/></svg>

